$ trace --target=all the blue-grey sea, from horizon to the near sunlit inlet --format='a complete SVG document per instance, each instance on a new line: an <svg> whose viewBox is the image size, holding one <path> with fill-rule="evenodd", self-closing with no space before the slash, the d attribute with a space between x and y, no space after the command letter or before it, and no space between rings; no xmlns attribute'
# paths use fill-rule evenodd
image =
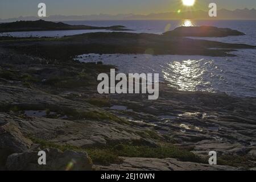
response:
<svg viewBox="0 0 256 182"><path fill-rule="evenodd" d="M256 45L255 20L126 20L67 21L90 26L123 25L136 33L162 34L179 26L216 26L242 31L245 36L193 38ZM64 36L98 30L13 32L12 36ZM104 31L104 30L100 30ZM1 34L0 34L1 35ZM3 34L2 34L3 35ZM238 97L256 97L256 49L240 49L237 57L159 55L82 55L78 60L117 65L125 73L159 73L160 80L179 90L225 92Z"/></svg>

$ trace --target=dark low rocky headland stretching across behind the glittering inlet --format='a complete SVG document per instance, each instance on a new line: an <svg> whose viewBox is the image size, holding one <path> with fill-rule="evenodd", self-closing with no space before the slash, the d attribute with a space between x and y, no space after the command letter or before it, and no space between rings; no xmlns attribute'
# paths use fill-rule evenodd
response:
<svg viewBox="0 0 256 182"><path fill-rule="evenodd" d="M46 59L67 59L84 53L148 53L152 55L236 56L236 49L254 49L246 44L195 40L177 36L133 34L127 32L95 32L63 38L10 38L0 46L38 55ZM1 40L1 38L0 38ZM150 51L148 51L150 50Z"/></svg>

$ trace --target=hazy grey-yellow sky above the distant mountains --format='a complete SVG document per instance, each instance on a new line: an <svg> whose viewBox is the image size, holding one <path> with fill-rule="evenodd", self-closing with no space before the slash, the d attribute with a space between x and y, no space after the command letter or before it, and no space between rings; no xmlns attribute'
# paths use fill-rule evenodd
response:
<svg viewBox="0 0 256 182"><path fill-rule="evenodd" d="M0 18L36 16L38 3L47 5L47 15L150 14L185 9L181 0L0 0ZM192 9L206 10L210 2L218 9L256 9L256 0L196 0Z"/></svg>

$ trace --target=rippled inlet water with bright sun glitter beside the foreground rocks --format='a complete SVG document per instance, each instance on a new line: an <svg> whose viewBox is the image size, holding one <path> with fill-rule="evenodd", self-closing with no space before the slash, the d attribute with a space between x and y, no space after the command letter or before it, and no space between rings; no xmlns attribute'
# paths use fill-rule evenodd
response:
<svg viewBox="0 0 256 182"><path fill-rule="evenodd" d="M179 90L256 97L255 50L242 49L236 55L238 57L92 53L76 59L117 65L119 72L124 73L159 73L160 81L167 81Z"/></svg>

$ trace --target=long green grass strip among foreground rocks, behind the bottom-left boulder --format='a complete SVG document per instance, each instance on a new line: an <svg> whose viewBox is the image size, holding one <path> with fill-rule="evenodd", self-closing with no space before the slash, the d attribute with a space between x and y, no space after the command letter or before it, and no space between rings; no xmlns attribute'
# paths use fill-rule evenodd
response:
<svg viewBox="0 0 256 182"><path fill-rule="evenodd" d="M29 137L32 142L40 144L42 148L59 148L61 151L75 150L86 151L92 159L94 164L118 164L122 163L122 159L119 156L131 157L131 158L176 158L182 161L205 163L205 161L199 156L193 154L190 151L183 148L174 146L172 144L162 144L158 147L150 146L134 146L132 144L116 144L106 147L88 147L81 148L70 145L59 145L53 142L49 142L42 139L36 139Z"/></svg>

